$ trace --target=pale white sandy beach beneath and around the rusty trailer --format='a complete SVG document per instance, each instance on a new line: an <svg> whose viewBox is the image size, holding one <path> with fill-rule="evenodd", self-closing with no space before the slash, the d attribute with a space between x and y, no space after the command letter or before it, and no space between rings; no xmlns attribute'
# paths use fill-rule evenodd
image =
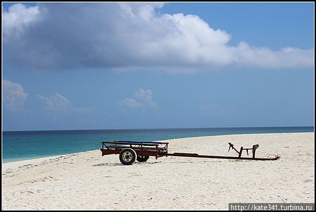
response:
<svg viewBox="0 0 316 212"><path fill-rule="evenodd" d="M2 170L2 210L228 210L228 203L238 202L315 203L314 132L168 142L170 153L223 156L237 154L227 153L228 142L237 149L259 144L258 157L280 159L151 157L124 166L118 155L102 157L100 150L76 153Z"/></svg>

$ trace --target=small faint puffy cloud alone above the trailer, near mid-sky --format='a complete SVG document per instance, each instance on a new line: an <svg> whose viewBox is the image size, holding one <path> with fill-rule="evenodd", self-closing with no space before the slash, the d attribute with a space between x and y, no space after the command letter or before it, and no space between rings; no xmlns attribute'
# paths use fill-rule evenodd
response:
<svg viewBox="0 0 316 212"><path fill-rule="evenodd" d="M157 107L158 105L153 101L153 93L150 89L143 90L138 89L134 92L134 96L137 100L131 98L124 98L119 104L130 108L140 108L140 107Z"/></svg>

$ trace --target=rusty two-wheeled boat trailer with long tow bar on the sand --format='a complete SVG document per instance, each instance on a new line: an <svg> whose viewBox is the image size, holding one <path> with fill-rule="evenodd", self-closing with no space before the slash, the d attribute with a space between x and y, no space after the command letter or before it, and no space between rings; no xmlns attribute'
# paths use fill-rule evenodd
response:
<svg viewBox="0 0 316 212"><path fill-rule="evenodd" d="M253 145L252 148L240 147L238 151L232 143L229 144L229 149L232 148L238 153L238 157L230 156L214 156L214 155L198 155L197 153L168 153L168 142L145 142L145 141L123 141L115 140L113 142L103 141L102 143L102 156L119 154L119 160L123 165L131 165L137 160L138 162L145 162L149 156L154 156L156 159L160 157L178 156L178 157L193 157L193 158L216 158L216 159L235 159L235 160L255 160L255 161L275 161L280 157L278 155L271 155L267 158L256 158L256 149L258 144ZM241 157L242 151L252 150L252 157Z"/></svg>

